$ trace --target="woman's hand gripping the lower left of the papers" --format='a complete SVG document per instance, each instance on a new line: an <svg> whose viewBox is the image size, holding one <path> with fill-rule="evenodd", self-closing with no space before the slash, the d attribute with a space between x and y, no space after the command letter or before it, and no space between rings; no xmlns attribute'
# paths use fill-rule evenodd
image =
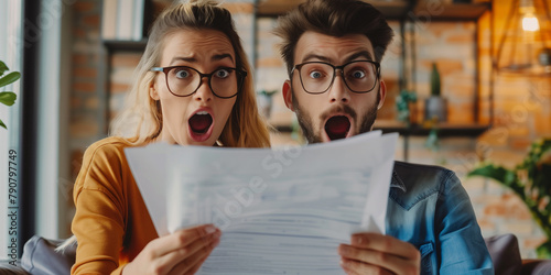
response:
<svg viewBox="0 0 551 275"><path fill-rule="evenodd" d="M203 224L158 238L128 263L122 274L194 274L220 242L222 232Z"/></svg>

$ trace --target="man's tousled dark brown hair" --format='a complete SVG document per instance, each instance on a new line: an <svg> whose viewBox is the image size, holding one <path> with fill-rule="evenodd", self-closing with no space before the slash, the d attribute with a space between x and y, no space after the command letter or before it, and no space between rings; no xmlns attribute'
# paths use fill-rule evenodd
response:
<svg viewBox="0 0 551 275"><path fill-rule="evenodd" d="M283 38L280 52L289 74L294 66L296 43L306 31L335 37L364 34L374 46L377 62L382 59L393 36L382 13L369 3L360 0L309 0L280 16L274 30Z"/></svg>

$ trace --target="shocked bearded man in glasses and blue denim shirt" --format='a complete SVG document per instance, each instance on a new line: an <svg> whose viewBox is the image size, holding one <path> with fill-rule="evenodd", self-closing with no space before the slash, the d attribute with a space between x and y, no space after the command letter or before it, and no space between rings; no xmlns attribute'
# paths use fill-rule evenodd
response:
<svg viewBox="0 0 551 275"><path fill-rule="evenodd" d="M382 14L359 0L309 0L279 19L288 108L310 143L371 130L386 96L380 61L392 40ZM451 170L396 162L386 235L341 244L348 274L494 274L471 200Z"/></svg>

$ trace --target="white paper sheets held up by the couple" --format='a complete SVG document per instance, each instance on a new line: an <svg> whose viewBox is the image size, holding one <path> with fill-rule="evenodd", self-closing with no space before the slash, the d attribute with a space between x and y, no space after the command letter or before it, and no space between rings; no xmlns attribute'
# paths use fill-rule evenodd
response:
<svg viewBox="0 0 551 275"><path fill-rule="evenodd" d="M126 155L160 235L214 223L198 274L344 274L359 231L385 232L398 134L288 148L151 144Z"/></svg>

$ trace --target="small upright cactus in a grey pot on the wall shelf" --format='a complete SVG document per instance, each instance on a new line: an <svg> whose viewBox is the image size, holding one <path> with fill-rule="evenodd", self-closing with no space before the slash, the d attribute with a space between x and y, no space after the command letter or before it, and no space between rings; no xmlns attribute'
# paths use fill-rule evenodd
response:
<svg viewBox="0 0 551 275"><path fill-rule="evenodd" d="M424 120L447 120L447 101L441 96L440 73L436 63L432 63L431 97L424 100Z"/></svg>

